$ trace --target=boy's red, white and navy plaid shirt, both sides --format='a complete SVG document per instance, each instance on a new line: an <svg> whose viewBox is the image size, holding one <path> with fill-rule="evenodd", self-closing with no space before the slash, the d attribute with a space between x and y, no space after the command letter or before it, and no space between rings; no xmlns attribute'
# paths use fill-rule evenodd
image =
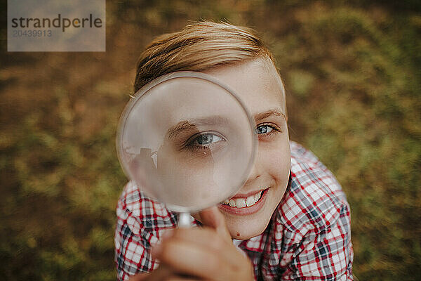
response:
<svg viewBox="0 0 421 281"><path fill-rule="evenodd" d="M290 142L288 189L265 231L239 248L256 280L353 280L349 205L340 184L312 152ZM118 280L151 271L150 247L177 216L130 182L117 204L114 237ZM194 221L198 225L199 222Z"/></svg>

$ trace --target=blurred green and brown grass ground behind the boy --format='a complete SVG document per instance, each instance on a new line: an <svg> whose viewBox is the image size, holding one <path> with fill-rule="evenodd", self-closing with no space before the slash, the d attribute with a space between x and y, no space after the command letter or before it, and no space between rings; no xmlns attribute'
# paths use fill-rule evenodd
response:
<svg viewBox="0 0 421 281"><path fill-rule="evenodd" d="M107 1L105 53L7 53L4 2L1 280L115 280L114 135L135 62L199 19L269 44L291 138L347 193L356 280L421 280L419 1Z"/></svg>

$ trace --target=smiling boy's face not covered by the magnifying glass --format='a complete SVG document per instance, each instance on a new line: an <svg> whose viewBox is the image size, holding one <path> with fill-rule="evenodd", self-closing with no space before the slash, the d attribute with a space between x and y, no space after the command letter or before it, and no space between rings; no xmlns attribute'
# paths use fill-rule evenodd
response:
<svg viewBox="0 0 421 281"><path fill-rule="evenodd" d="M288 185L290 146L281 79L265 59L206 73L233 89L255 118L259 144L251 174L241 190L219 206L232 237L246 240L265 230Z"/></svg>

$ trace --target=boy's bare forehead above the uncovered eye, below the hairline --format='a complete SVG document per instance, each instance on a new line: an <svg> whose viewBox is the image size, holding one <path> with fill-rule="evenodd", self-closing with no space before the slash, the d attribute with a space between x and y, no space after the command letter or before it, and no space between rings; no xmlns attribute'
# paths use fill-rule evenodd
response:
<svg viewBox="0 0 421 281"><path fill-rule="evenodd" d="M269 60L249 60L236 65L217 67L206 73L227 84L252 115L275 108L286 114L282 81Z"/></svg>

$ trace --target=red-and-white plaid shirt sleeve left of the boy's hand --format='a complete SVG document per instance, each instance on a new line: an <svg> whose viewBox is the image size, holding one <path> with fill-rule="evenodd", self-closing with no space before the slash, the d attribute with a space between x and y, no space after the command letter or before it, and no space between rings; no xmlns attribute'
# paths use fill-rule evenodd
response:
<svg viewBox="0 0 421 281"><path fill-rule="evenodd" d="M130 275L156 269L159 263L152 259L151 245L159 242L163 232L175 227L175 214L129 182L117 203L116 215L117 280L128 280Z"/></svg>

